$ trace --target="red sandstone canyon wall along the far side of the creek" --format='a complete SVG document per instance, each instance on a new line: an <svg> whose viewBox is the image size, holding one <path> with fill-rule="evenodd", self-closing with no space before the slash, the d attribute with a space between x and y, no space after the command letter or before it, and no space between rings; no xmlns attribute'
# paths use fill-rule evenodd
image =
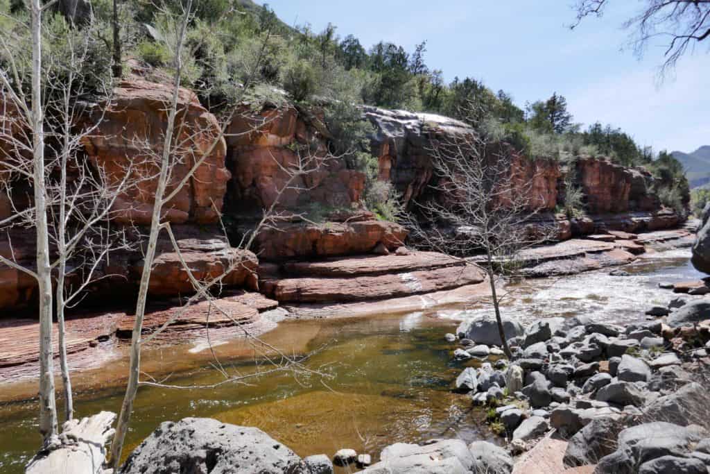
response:
<svg viewBox="0 0 710 474"><path fill-rule="evenodd" d="M165 104L170 96L169 86L134 76L119 84L109 107L100 107L101 111L96 107L85 117L87 123L98 124L82 143L92 166L104 171L112 182L119 182L131 163L131 172L143 178L114 206L115 225L131 229L129 234L136 242L141 242L141 232L145 234L150 222L167 120ZM271 281L273 272L285 271L287 260L387 254L403 246L408 232L402 225L378 220L364 209L364 173L344 158L328 158L329 132L319 112L290 104L252 110L244 104L226 124L222 137L222 124L190 90L180 90L178 108L175 134L182 145L173 156L176 165L171 169L169 190L186 179L197 160L205 158L185 188L165 206L164 218L173 225L180 252L197 279L213 278L236 261L241 264L225 279L226 286L257 290L257 272L259 277L269 274L266 280ZM7 119L11 109L0 104L0 111L5 111L0 115L2 133L21 136L14 122ZM375 107L363 107L363 114L375 129L371 149L378 160L378 179L393 183L409 208L430 192L436 178L432 143L471 132L463 122L432 114ZM0 151L11 153L9 141L2 137L0 133ZM288 168L305 162L309 173L292 179ZM320 164L317 168L316 163ZM588 215L572 220L555 214L564 197L563 177L569 170L554 160L533 161L524 156L517 156L510 170L521 187L531 183L530 209L553 220L560 239L600 230L656 230L673 227L681 220L662 208L651 192L653 178L646 171L624 168L606 158L579 158L574 166ZM525 184L525 188L529 186ZM18 181L12 190L11 200L0 195L0 219L11 214L13 205L20 209L28 206L28 188ZM254 253L231 247L268 208L288 217L256 237L251 249ZM220 216L227 217L224 222L231 243ZM0 236L0 254L31 267L33 242L31 230L12 228ZM266 263L269 261L274 263ZM99 298L131 295L142 267L140 249L116 254L110 264L99 269L106 279L90 286L89 291ZM151 293L180 296L191 289L179 255L163 236ZM0 265L0 309L27 306L33 298L34 281L21 271Z"/></svg>

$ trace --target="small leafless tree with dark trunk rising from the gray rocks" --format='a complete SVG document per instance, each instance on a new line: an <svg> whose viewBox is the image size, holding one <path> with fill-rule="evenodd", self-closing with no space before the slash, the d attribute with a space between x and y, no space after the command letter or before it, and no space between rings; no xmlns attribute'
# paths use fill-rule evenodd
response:
<svg viewBox="0 0 710 474"><path fill-rule="evenodd" d="M411 237L484 268L503 350L512 358L496 282L514 271L520 251L551 239L556 232L555 225L535 219L536 167L530 175L523 164L527 158L508 144L493 143L472 130L432 142L431 155L433 196L417 203L419 216L410 215ZM482 257L466 258L481 253Z"/></svg>

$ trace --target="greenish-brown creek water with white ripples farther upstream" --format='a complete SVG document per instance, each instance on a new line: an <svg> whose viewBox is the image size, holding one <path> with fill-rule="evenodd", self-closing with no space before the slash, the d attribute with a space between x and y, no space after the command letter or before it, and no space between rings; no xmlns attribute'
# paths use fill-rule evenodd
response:
<svg viewBox="0 0 710 474"><path fill-rule="evenodd" d="M643 319L646 308L667 304L672 293L660 282L698 279L689 250L650 254L623 267L512 286L504 311L524 323L549 316L584 314L596 321L628 323ZM263 375L251 384L203 389L143 387L138 392L126 453L162 421L208 416L226 423L257 426L300 456L354 448L373 454L397 442L427 438L497 441L485 414L469 399L450 392L464 367L454 362L455 346L444 342L461 318L490 311L446 308L422 313L368 318L287 321L264 336L284 352L317 350L307 367L318 373ZM256 370L253 348L236 340L215 348L225 369ZM171 384L209 385L223 379L209 364L209 351L195 346L146 352L146 370ZM472 365L476 362L468 362ZM266 370L266 365L261 365ZM75 376L79 416L118 411L126 357ZM30 383L30 382L28 382ZM34 383L34 382L31 382ZM22 389L20 387L20 389ZM18 387L0 386L0 400ZM60 402L61 403L61 402ZM0 472L21 473L38 446L35 399L0 404Z"/></svg>

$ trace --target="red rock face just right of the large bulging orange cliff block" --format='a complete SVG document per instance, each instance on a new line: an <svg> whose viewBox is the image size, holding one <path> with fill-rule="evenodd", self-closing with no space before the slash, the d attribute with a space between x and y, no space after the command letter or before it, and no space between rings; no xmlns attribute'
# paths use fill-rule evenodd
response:
<svg viewBox="0 0 710 474"><path fill-rule="evenodd" d="M365 175L348 169L343 158L328 158L322 117L287 105L259 113L244 107L227 128L231 212L253 213L276 204L281 210L311 205L350 208L359 203ZM317 171L291 180L299 163ZM285 190L280 193L281 190ZM278 200L278 202L277 202Z"/></svg>

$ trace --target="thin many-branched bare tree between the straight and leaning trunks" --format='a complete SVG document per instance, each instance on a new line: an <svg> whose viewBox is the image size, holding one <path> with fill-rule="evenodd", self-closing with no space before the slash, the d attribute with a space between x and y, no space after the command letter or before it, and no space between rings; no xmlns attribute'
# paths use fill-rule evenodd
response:
<svg viewBox="0 0 710 474"><path fill-rule="evenodd" d="M42 32L40 41L50 33ZM67 28L62 36L62 48L40 53L40 87L43 91L42 131L43 166L40 177L35 175L38 162L28 160L32 151L28 143L35 139L35 126L26 113L27 97L25 85L21 82L23 70L23 38L6 36L0 40L3 58L8 67L0 69L0 92L5 109L2 111L3 129L0 142L4 144L2 153L3 176L0 191L6 193L11 212L0 220L0 230L8 236L11 258L1 262L25 271L37 279L40 268L48 265L48 291L54 292L52 308L45 309L47 296L40 286L40 324L48 320L48 328L40 326L40 333L51 331L53 314L58 320L58 352L65 397L65 417L69 421L74 416L70 367L67 362L65 311L75 306L84 296L87 286L97 279L106 277L102 264L109 252L131 247L120 229L113 230L109 224L114 203L122 193L129 190L131 163L126 164L124 179L114 183L106 171L94 166L82 153L82 141L100 126L105 107L109 107L112 85L105 82L101 68L91 59L92 27ZM19 31L23 31L20 25ZM57 33L54 33L57 34ZM33 39L33 47L37 44ZM105 76L105 75L104 75ZM99 102L102 105L99 105ZM93 122L87 122L87 109L92 109ZM20 200L13 188L17 183L26 183L35 193L34 200ZM38 199L37 195L42 198ZM38 232L38 254L46 249L47 262L33 262L31 265L18 261L12 246L13 227L35 227ZM39 234L42 235L40 238ZM2 258L2 257L0 257ZM44 254L43 254L43 258ZM37 271L34 271L34 268ZM37 276L35 276L35 274ZM39 284L39 281L38 281ZM54 284L54 291L53 286ZM48 311L45 315L43 311ZM50 333L51 338L51 333ZM45 341L49 352L42 350L41 362L45 358L51 363L53 350L51 340ZM44 369L43 369L44 370ZM50 368L47 370L50 371ZM42 376L43 379L53 376ZM54 389L51 389L54 392ZM45 389L40 390L40 393ZM46 395L45 397L49 397ZM56 415L55 415L56 419ZM56 421L53 422L56 426ZM44 430L45 428L42 427ZM44 431L43 431L44 432Z"/></svg>

